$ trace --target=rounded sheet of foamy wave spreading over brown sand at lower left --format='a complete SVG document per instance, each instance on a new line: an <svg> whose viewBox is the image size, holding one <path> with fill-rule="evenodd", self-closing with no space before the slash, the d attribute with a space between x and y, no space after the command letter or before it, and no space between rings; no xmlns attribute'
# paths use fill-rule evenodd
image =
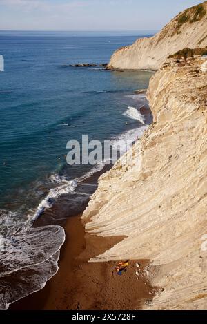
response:
<svg viewBox="0 0 207 324"><path fill-rule="evenodd" d="M59 226L21 230L6 236L0 249L0 309L42 289L58 271L59 251L65 241Z"/></svg>

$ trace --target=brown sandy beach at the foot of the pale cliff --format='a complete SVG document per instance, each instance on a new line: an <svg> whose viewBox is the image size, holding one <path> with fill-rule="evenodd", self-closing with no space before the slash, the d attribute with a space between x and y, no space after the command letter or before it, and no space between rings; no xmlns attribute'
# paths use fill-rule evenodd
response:
<svg viewBox="0 0 207 324"><path fill-rule="evenodd" d="M117 263L88 263L92 256L112 247L122 238L99 238L85 235L80 216L66 222L66 243L61 249L59 271L41 291L14 303L10 309L140 309L152 300L153 289L140 276L137 280L135 261L126 273L118 276ZM146 266L139 261L140 270Z"/></svg>

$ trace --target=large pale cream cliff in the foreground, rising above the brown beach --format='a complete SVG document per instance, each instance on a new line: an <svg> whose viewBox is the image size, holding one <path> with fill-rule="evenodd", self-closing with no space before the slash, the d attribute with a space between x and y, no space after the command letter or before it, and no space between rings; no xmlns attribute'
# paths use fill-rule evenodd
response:
<svg viewBox="0 0 207 324"><path fill-rule="evenodd" d="M131 149L139 163L102 175L83 213L86 231L126 238L90 261L152 260L161 289L146 309L206 309L206 60L171 59L147 95L154 122Z"/></svg>

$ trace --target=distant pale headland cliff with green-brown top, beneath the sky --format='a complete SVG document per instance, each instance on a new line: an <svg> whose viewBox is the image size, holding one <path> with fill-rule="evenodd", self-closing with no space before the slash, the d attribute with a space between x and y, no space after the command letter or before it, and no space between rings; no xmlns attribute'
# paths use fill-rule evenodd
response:
<svg viewBox="0 0 207 324"><path fill-rule="evenodd" d="M206 48L207 1L181 12L154 37L137 39L117 50L109 69L158 70L166 58L183 48Z"/></svg>

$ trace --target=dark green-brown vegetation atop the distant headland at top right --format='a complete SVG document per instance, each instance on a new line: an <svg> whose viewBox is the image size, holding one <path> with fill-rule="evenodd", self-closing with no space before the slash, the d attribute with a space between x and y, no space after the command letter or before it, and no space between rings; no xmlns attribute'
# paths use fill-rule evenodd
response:
<svg viewBox="0 0 207 324"><path fill-rule="evenodd" d="M205 15L206 9L203 3L186 9L177 17L177 26L175 27L177 34L181 33L180 28L184 23L195 23L196 21L200 21Z"/></svg>

